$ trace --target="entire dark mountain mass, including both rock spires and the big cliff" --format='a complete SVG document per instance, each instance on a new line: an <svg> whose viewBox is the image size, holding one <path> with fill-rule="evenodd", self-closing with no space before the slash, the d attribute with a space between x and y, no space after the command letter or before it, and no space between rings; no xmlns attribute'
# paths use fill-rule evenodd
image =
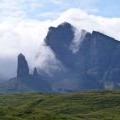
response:
<svg viewBox="0 0 120 120"><path fill-rule="evenodd" d="M77 31L65 22L49 28L45 44L59 61L59 69L41 74L37 67L29 74L27 60L19 54L17 77L0 84L0 91L120 89L120 41L98 31ZM49 64L56 68L52 62Z"/></svg>

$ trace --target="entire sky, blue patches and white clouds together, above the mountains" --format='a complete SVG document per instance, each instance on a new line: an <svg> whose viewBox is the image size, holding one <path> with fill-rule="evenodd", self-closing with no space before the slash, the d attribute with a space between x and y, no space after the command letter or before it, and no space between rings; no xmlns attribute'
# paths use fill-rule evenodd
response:
<svg viewBox="0 0 120 120"><path fill-rule="evenodd" d="M47 69L54 55L44 38L64 21L120 40L120 0L0 0L0 78L15 76L20 52L30 68Z"/></svg>

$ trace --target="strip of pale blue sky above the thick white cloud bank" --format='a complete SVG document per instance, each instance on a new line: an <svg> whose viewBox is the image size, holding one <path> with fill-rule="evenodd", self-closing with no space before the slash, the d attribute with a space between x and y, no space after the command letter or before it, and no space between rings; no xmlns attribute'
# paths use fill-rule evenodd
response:
<svg viewBox="0 0 120 120"><path fill-rule="evenodd" d="M120 0L0 0L0 17L54 19L70 8L104 17L120 16Z"/></svg>

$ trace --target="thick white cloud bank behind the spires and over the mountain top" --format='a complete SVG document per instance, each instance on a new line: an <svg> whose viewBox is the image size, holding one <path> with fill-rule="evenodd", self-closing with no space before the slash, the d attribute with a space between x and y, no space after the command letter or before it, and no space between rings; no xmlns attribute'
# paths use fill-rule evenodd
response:
<svg viewBox="0 0 120 120"><path fill-rule="evenodd" d="M21 16L5 17L0 21L0 66L2 66L0 75L6 77L15 75L16 57L20 52L25 54L30 68L36 64L46 68L47 58L50 56L51 59L54 58L43 41L48 27L57 26L65 21L73 24L78 30L85 29L90 32L98 30L120 40L120 18L95 16L80 9L69 9L61 13L57 19L46 21L21 18ZM57 61L54 61L54 64L58 64Z"/></svg>

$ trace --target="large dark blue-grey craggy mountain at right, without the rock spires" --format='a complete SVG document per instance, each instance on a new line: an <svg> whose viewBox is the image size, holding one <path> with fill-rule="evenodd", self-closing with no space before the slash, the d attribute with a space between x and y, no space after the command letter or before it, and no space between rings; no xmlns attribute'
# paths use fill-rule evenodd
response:
<svg viewBox="0 0 120 120"><path fill-rule="evenodd" d="M97 31L82 30L79 34L75 50L75 28L71 24L49 28L46 45L67 70L55 85L63 90L119 89L120 42Z"/></svg>

